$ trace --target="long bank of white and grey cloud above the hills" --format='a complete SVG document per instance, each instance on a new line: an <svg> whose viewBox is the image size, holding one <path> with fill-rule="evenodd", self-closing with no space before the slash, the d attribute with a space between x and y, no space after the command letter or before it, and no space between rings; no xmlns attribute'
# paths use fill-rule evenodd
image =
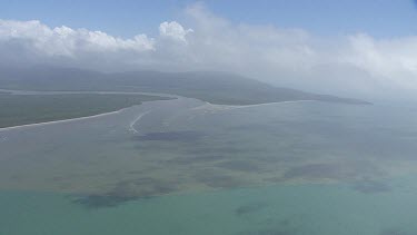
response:
<svg viewBox="0 0 417 235"><path fill-rule="evenodd" d="M0 20L0 63L225 70L279 86L361 96L417 89L417 36L322 38L302 29L232 23L202 4L185 9L182 20L163 21L153 38L129 39L37 20Z"/></svg>

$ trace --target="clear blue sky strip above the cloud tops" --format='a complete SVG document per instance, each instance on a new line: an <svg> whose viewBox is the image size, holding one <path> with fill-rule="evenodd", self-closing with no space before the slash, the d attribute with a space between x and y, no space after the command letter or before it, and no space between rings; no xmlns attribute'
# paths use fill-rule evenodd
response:
<svg viewBox="0 0 417 235"><path fill-rule="evenodd" d="M0 0L0 19L32 20L115 36L158 33L161 21L181 21L191 0ZM377 38L417 32L411 0L257 0L203 1L215 14L232 22L301 28L315 35L366 32Z"/></svg>

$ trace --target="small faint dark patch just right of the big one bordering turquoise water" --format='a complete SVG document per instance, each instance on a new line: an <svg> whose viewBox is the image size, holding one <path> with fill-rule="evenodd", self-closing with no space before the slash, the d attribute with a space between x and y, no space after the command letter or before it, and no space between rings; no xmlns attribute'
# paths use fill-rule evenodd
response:
<svg viewBox="0 0 417 235"><path fill-rule="evenodd" d="M212 188L232 188L245 185L245 182L229 175L219 175L202 170L196 175L196 179Z"/></svg>

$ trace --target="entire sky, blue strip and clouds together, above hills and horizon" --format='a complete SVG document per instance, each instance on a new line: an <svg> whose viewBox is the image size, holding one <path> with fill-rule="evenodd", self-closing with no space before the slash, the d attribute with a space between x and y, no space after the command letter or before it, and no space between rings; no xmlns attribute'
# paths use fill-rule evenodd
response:
<svg viewBox="0 0 417 235"><path fill-rule="evenodd" d="M411 0L0 0L0 65L222 70L358 96L415 94Z"/></svg>

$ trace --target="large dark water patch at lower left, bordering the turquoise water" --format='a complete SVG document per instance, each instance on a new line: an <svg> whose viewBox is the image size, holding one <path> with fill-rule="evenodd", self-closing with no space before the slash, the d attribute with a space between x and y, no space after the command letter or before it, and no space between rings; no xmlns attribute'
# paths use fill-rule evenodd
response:
<svg viewBox="0 0 417 235"><path fill-rule="evenodd" d="M87 208L113 207L122 203L139 198L149 198L177 190L177 184L153 178L138 178L117 183L116 186L105 193L79 197L72 200Z"/></svg>

